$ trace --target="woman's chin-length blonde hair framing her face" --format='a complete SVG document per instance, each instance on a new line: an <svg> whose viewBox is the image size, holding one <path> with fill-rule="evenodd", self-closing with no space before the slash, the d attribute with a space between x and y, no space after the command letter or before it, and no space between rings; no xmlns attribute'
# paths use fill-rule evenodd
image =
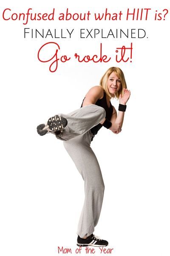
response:
<svg viewBox="0 0 170 256"><path fill-rule="evenodd" d="M111 94L109 93L108 91L108 78L109 76L111 75L111 73L114 72L116 74L116 76L120 79L121 81L121 87L120 87L120 90L118 92L116 92L114 94L114 96L111 96ZM123 89L127 88L127 85L126 85L126 81L125 81L125 76L124 76L124 73L123 71L119 68L119 67L110 67L106 72L105 74L102 76L101 80L100 80L100 84L99 84L103 90L105 91L105 93L109 96L109 98L111 99L112 97L113 98L116 98L116 99L119 99L119 95L122 94L123 96Z"/></svg>

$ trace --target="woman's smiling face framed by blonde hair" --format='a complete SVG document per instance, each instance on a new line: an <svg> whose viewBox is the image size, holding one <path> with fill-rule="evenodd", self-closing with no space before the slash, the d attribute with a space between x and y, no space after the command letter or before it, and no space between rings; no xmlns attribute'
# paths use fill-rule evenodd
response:
<svg viewBox="0 0 170 256"><path fill-rule="evenodd" d="M108 77L108 91L111 95L114 95L121 88L121 81L114 72Z"/></svg>

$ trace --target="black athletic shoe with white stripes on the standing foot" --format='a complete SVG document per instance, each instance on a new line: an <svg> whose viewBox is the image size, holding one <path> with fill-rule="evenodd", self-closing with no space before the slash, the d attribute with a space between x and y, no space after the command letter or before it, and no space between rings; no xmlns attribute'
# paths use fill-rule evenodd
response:
<svg viewBox="0 0 170 256"><path fill-rule="evenodd" d="M98 236L91 234L86 239L82 239L81 237L77 237L77 245L78 246L107 246L108 241L100 239Z"/></svg>

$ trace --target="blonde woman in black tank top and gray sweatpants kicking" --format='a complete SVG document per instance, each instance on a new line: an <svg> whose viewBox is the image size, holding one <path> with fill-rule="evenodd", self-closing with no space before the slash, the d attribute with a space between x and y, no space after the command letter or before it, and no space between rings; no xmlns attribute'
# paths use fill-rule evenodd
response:
<svg viewBox="0 0 170 256"><path fill-rule="evenodd" d="M111 105L111 98L119 99L119 113ZM104 195L104 183L99 163L90 144L104 126L114 134L122 130L126 103L130 97L122 70L109 68L102 76L99 86L92 87L80 109L68 115L59 114L38 125L40 135L53 133L63 140L65 149L74 161L85 182L85 202L77 230L78 246L107 246L108 241L93 235L98 223Z"/></svg>

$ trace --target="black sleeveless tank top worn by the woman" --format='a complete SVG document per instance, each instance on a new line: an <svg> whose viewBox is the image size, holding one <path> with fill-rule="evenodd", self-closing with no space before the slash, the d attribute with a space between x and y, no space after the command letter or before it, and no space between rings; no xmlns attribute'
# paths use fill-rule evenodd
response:
<svg viewBox="0 0 170 256"><path fill-rule="evenodd" d="M84 99L82 101L82 104L84 102ZM105 118L107 118L110 121L111 116L113 114L113 106L111 105L111 101L110 101L110 107L108 107L105 91L103 92L103 98L98 99L96 101L95 105L105 109L105 111L106 111L106 117ZM81 105L81 108L82 108L82 105ZM93 137L92 137L91 141L93 140L94 136L98 133L98 131L102 128L102 126L103 125L98 124L98 125L94 126L93 128L91 128L91 133L93 134Z"/></svg>

